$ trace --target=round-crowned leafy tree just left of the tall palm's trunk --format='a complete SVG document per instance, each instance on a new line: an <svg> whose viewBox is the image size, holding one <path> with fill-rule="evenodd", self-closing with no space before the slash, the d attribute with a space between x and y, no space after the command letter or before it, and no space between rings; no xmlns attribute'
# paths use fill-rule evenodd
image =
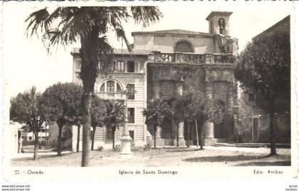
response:
<svg viewBox="0 0 299 191"><path fill-rule="evenodd" d="M60 82L48 87L42 94L42 110L47 121L56 121L58 125L58 155L61 155L63 126L77 124L80 119L81 94L82 87L80 85Z"/></svg>

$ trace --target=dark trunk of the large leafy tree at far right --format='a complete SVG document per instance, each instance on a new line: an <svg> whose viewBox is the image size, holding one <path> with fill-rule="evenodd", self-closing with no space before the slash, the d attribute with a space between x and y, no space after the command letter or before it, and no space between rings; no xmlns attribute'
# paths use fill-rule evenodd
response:
<svg viewBox="0 0 299 191"><path fill-rule="evenodd" d="M276 155L276 141L275 141L275 99L272 97L270 100L270 143L271 153L270 155Z"/></svg>

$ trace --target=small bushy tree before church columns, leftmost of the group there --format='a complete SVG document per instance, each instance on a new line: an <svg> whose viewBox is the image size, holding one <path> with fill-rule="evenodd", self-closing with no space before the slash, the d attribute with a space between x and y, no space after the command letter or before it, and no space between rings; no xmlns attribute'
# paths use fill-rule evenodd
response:
<svg viewBox="0 0 299 191"><path fill-rule="evenodd" d="M157 127L162 127L165 117L172 114L172 110L166 101L154 100L147 103L147 109L143 110L142 114L145 116L145 124L154 126L154 148L156 148L156 132Z"/></svg>

